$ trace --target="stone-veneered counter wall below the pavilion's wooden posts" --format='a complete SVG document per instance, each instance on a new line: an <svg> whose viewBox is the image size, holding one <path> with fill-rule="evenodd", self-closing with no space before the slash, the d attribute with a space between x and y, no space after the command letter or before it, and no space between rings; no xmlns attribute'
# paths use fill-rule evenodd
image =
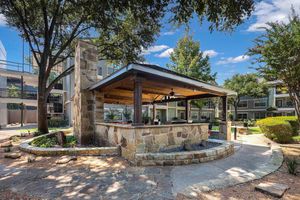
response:
<svg viewBox="0 0 300 200"><path fill-rule="evenodd" d="M139 153L155 153L182 145L189 139L199 143L208 139L208 124L131 126L95 123L95 140L101 146L121 146L121 155L135 162Z"/></svg>

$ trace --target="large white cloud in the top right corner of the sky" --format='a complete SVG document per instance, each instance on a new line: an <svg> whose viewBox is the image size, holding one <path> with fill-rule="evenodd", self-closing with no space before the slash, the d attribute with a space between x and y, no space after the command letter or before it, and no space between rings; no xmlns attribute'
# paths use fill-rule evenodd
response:
<svg viewBox="0 0 300 200"><path fill-rule="evenodd" d="M255 22L248 27L247 31L263 31L262 28L267 27L267 22L288 22L291 6L294 6L297 14L300 14L299 0L270 0L258 2L253 12Z"/></svg>

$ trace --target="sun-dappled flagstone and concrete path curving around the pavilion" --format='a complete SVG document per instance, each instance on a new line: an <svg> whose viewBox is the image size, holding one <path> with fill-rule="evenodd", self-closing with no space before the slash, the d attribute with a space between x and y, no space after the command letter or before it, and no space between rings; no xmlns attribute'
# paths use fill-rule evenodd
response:
<svg viewBox="0 0 300 200"><path fill-rule="evenodd" d="M67 165L55 165L58 158L39 158L35 164L0 159L0 192L46 199L174 199L260 178L282 162L274 164L262 135L242 139L248 142L237 143L228 158L177 167L132 167L121 158L103 157L79 157Z"/></svg>

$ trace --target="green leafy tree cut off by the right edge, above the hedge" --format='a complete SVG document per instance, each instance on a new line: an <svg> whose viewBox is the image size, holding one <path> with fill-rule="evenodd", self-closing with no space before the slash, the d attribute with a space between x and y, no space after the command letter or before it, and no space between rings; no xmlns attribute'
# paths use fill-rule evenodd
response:
<svg viewBox="0 0 300 200"><path fill-rule="evenodd" d="M267 80L281 80L288 88L300 120L300 17L292 9L288 23L268 23L249 54L259 63L259 73Z"/></svg>

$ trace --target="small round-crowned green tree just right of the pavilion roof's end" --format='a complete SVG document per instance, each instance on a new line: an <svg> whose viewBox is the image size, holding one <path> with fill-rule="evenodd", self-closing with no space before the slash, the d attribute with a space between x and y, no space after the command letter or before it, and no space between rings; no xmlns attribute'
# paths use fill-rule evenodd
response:
<svg viewBox="0 0 300 200"><path fill-rule="evenodd" d="M235 74L225 80L224 87L237 93L237 96L229 99L229 103L234 106L235 120L237 120L237 108L242 96L263 97L267 95L268 90L267 85L257 74Z"/></svg>

